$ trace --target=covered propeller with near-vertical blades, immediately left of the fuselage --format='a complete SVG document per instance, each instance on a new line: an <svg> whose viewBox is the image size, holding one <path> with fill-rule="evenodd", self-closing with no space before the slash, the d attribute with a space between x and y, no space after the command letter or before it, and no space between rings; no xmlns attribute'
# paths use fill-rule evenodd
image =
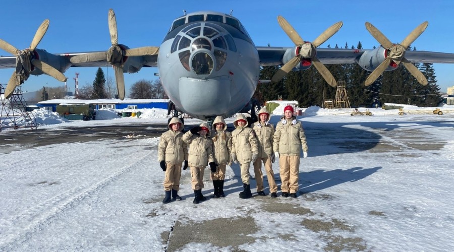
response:
<svg viewBox="0 0 454 252"><path fill-rule="evenodd" d="M123 65L125 57L129 56L144 56L156 55L159 52L159 47L145 46L133 49L124 49L118 43L117 19L112 9L109 9L108 24L110 43L112 46L106 52L85 53L71 57L73 63L83 63L91 61L107 60L112 65L117 80L118 97L123 100L125 98L125 79L123 76Z"/></svg>

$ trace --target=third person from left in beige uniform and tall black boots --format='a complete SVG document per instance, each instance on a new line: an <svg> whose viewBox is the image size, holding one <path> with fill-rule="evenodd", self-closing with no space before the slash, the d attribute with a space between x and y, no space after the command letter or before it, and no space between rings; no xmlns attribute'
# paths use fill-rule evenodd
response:
<svg viewBox="0 0 454 252"><path fill-rule="evenodd" d="M227 124L222 116L216 116L213 121L213 152L214 161L218 165L213 171L211 170L211 180L214 186L214 198L225 197L224 178L225 167L231 165L232 160L230 152L232 150L232 133L227 131Z"/></svg>

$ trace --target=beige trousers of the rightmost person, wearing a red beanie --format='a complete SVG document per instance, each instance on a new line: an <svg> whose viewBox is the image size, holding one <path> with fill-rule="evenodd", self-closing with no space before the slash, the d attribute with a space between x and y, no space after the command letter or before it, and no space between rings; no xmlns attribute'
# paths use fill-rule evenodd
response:
<svg viewBox="0 0 454 252"><path fill-rule="evenodd" d="M279 158L279 173L282 184L280 190L282 193L298 192L298 175L300 167L300 156L283 156Z"/></svg>

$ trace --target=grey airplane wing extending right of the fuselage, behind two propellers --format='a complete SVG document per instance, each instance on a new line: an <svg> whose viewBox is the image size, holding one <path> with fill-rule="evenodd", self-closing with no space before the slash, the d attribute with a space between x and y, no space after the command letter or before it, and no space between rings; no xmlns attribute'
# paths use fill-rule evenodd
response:
<svg viewBox="0 0 454 252"><path fill-rule="evenodd" d="M378 49L378 48L377 48ZM374 49L374 50L377 50ZM262 67L283 65L284 54L295 50L294 47L257 47ZM368 49L317 48L317 58L325 65L358 63ZM405 57L412 63L454 63L454 53L432 51L406 51Z"/></svg>

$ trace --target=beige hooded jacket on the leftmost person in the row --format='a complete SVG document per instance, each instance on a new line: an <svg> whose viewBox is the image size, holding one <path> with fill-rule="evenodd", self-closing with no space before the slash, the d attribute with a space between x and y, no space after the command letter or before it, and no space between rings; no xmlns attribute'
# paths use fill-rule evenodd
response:
<svg viewBox="0 0 454 252"><path fill-rule="evenodd" d="M180 123L180 129L177 132L172 130L171 124ZM158 160L164 160L170 164L181 164L188 160L188 145L183 142L183 123L180 118L173 117L167 125L168 131L162 133L159 140Z"/></svg>

